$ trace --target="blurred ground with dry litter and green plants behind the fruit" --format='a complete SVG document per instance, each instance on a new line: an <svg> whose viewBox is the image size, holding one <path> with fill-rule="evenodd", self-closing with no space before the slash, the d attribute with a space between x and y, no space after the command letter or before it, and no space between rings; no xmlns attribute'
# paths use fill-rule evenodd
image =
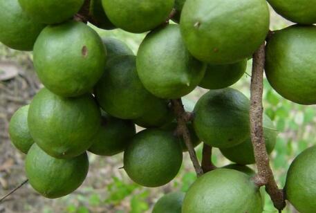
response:
<svg viewBox="0 0 316 213"><path fill-rule="evenodd" d="M271 30L289 26L290 23L271 12ZM93 27L93 26L92 26ZM93 27L94 28L94 27ZM122 30L97 30L102 37L115 37L124 41L136 54L145 35L135 35ZM248 70L234 86L250 97L251 60ZM24 172L25 156L15 149L8 138L8 123L12 114L21 106L30 103L32 97L41 88L32 66L32 54L10 50L0 44L0 197L26 180ZM196 88L183 98L188 110L206 90ZM263 105L265 113L275 122L279 131L277 145L271 155L271 165L277 183L284 187L286 171L292 160L301 151L315 145L316 107L301 106L284 100L273 91L264 80ZM202 147L196 147L201 159ZM64 198L49 200L39 196L30 185L24 185L3 203L1 212L151 212L154 203L163 194L173 191L186 192L196 179L196 174L187 153L184 154L183 166L178 176L171 183L158 188L146 188L133 183L125 174L122 154L113 157L100 157L89 154L90 169L82 187ZM218 149L213 149L213 163L217 167L230 164ZM256 169L255 166L250 166ZM266 194L264 212L275 211ZM284 212L295 212L288 205Z"/></svg>

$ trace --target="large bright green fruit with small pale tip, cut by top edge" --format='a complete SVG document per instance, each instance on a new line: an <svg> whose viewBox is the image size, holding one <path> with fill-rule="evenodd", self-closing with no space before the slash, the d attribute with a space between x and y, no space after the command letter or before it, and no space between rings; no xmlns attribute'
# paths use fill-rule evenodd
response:
<svg viewBox="0 0 316 213"><path fill-rule="evenodd" d="M232 64L252 55L268 34L265 0L187 0L180 28L185 45L197 59Z"/></svg>

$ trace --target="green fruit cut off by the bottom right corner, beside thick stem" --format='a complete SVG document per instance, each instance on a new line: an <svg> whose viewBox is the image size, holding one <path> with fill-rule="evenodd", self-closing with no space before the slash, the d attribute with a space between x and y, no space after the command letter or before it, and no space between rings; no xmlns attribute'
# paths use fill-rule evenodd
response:
<svg viewBox="0 0 316 213"><path fill-rule="evenodd" d="M286 199L301 213L316 210L316 146L303 151L290 165L286 176Z"/></svg>

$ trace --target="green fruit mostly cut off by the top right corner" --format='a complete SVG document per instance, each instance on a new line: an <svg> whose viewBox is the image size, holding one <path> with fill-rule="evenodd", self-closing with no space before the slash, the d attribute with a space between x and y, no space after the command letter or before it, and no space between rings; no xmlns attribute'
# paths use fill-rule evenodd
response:
<svg viewBox="0 0 316 213"><path fill-rule="evenodd" d="M316 23L315 0L268 0L282 17L298 24Z"/></svg>

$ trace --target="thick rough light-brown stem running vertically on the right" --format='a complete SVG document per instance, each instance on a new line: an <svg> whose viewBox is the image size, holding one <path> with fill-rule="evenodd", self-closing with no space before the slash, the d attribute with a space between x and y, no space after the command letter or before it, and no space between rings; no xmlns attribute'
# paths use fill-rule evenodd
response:
<svg viewBox="0 0 316 213"><path fill-rule="evenodd" d="M265 64L265 45L262 44L253 55L252 77L250 86L250 129L251 140L254 147L254 157L258 168L258 174L254 182L259 186L266 185L266 191L270 195L277 210L281 211L286 206L284 192L277 187L270 167L269 156L266 151L266 142L263 137L263 69Z"/></svg>

